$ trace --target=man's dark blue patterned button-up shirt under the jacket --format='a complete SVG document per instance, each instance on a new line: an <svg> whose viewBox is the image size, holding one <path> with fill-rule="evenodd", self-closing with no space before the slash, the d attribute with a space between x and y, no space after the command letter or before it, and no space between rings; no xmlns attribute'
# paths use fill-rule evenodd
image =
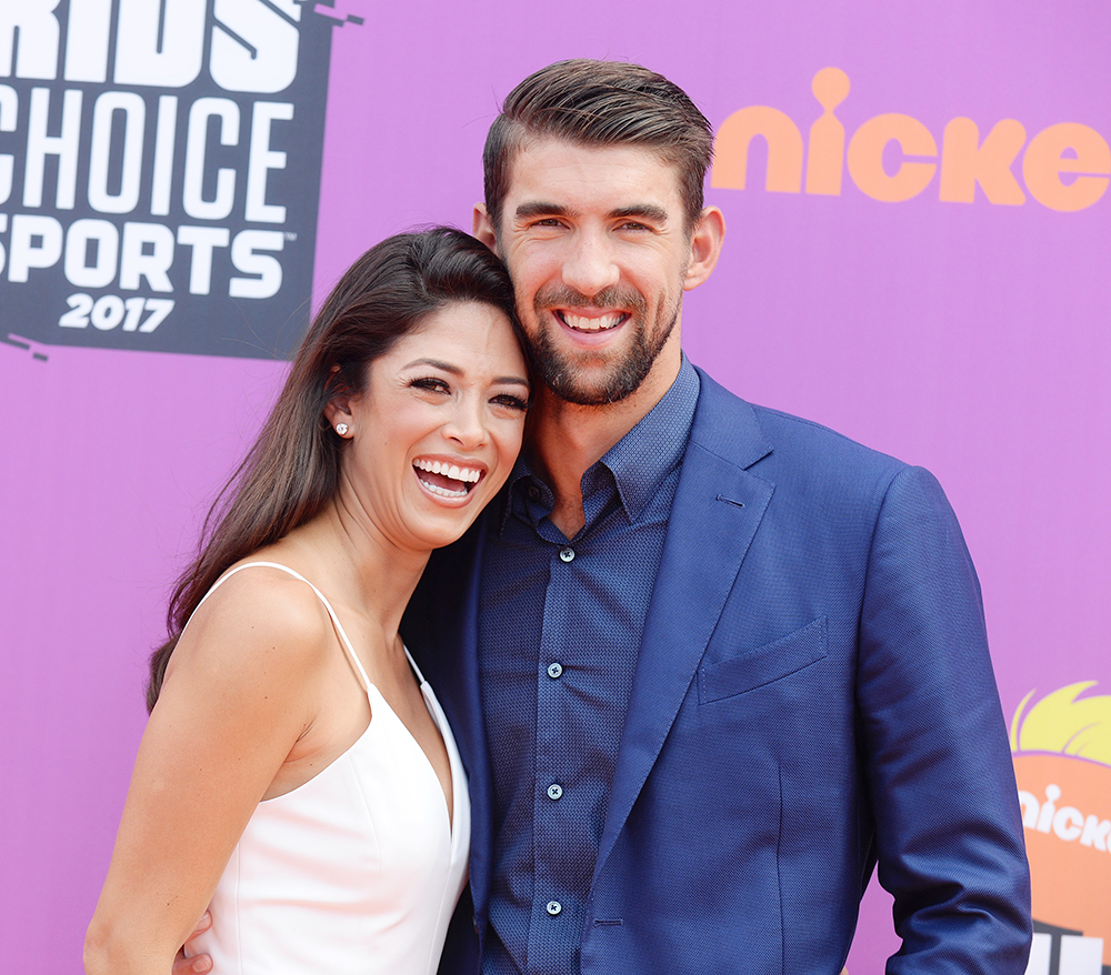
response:
<svg viewBox="0 0 1111 975"><path fill-rule="evenodd" d="M494 781L483 975L579 971L584 899L644 620L698 401L683 358L662 400L582 476L568 540L522 458L489 519L479 666Z"/></svg>

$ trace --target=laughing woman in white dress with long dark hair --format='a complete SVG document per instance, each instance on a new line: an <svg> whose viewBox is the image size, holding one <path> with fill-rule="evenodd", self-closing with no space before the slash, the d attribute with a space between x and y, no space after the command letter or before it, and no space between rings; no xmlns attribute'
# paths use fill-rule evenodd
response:
<svg viewBox="0 0 1111 975"><path fill-rule="evenodd" d="M89 973L437 968L467 782L398 625L520 450L529 379L501 263L438 228L364 254L210 514L151 660Z"/></svg>

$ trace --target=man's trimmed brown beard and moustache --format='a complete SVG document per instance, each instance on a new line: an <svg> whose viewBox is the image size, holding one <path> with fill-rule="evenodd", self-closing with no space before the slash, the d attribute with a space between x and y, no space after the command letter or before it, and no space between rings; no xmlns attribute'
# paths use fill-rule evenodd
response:
<svg viewBox="0 0 1111 975"><path fill-rule="evenodd" d="M597 382L588 380L588 371L578 366L574 358L589 363L591 360L602 362L603 355L583 351L578 356L572 356L560 351L552 338L552 330L539 328L539 323L553 308L629 309L629 320L619 328L633 330L632 345ZM579 406L605 406L637 392L651 372L653 363L663 351L679 320L679 302L670 308L665 302L661 302L655 315L655 328L649 334L645 321L648 302L644 296L637 291L617 288L600 291L593 299L585 298L570 288L541 289L533 299L532 310L538 323L536 334L527 336L532 370L561 400Z"/></svg>

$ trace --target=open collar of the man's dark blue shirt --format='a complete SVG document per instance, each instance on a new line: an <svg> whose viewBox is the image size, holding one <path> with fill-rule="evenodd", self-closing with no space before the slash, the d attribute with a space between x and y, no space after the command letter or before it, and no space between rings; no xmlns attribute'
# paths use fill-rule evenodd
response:
<svg viewBox="0 0 1111 975"><path fill-rule="evenodd" d="M605 452L602 459L582 476L583 491L597 483L599 465L607 468L617 485L618 497L630 521L640 517L644 507L682 461L694 422L698 405L699 378L685 353L679 365L679 375L641 421ZM514 496L530 486L543 482L536 475L524 453L517 460L504 491L504 506L499 519L499 531L513 509ZM543 492L551 493L544 485Z"/></svg>

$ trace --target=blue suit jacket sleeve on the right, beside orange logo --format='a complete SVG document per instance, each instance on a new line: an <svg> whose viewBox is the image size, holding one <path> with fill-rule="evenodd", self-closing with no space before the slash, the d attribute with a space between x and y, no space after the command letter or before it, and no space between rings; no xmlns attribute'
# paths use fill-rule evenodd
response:
<svg viewBox="0 0 1111 975"><path fill-rule="evenodd" d="M858 707L889 975L1023 975L1030 879L980 586L941 486L891 481L868 561Z"/></svg>

